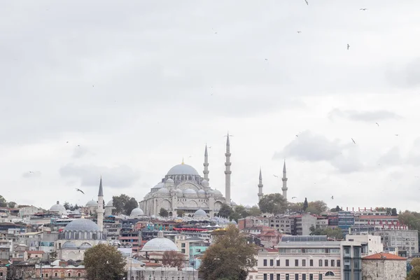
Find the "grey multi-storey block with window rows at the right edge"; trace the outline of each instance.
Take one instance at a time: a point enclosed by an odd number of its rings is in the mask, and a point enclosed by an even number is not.
[[[419,232],[417,230],[378,230],[374,235],[381,237],[385,247],[397,247],[398,255],[409,258],[419,253]]]

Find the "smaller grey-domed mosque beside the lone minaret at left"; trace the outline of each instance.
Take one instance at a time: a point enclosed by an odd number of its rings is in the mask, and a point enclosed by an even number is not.
[[[106,243],[106,237],[96,223],[85,218],[76,219],[59,233],[55,243],[57,258],[83,260],[88,248],[101,243]]]

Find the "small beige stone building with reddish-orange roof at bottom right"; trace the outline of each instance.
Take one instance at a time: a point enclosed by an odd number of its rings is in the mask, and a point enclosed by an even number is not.
[[[404,280],[406,276],[406,258],[389,253],[377,253],[362,259],[363,280]]]

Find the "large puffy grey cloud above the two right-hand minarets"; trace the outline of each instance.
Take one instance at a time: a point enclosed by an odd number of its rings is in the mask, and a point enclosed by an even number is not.
[[[338,140],[330,141],[321,135],[309,131],[302,132],[299,137],[290,142],[280,153],[274,154],[274,159],[287,157],[310,162],[329,162],[338,172],[351,173],[362,169],[363,164],[349,145],[342,145]],[[348,154],[348,155],[346,155]]]

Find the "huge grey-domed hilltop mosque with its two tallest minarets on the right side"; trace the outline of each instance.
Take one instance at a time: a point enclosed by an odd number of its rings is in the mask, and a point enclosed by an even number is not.
[[[209,185],[209,158],[207,146],[204,151],[204,176],[184,162],[175,165],[165,175],[158,185],[151,188],[140,208],[147,216],[158,216],[160,209],[164,208],[169,216],[176,216],[177,210],[183,210],[186,215],[193,216],[197,210],[202,209],[210,217],[216,216],[222,204],[231,204],[230,201],[230,141],[226,140],[225,161],[225,197],[220,190],[211,189]],[[232,203],[233,204],[233,203]]]

